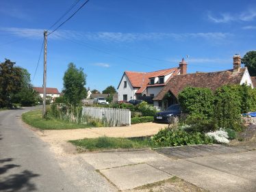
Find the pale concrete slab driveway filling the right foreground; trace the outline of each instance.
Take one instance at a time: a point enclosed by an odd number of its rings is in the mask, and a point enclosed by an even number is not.
[[[255,150],[218,145],[162,150],[169,154],[144,150],[79,156],[120,190],[178,176],[209,191],[256,191]],[[188,157],[177,158],[177,154]]]

